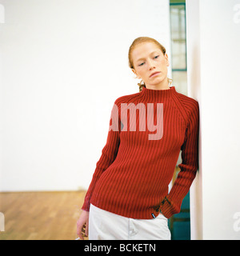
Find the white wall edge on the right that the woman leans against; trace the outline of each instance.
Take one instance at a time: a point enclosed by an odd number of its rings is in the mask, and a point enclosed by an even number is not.
[[[200,105],[192,239],[240,238],[240,2],[187,0],[188,86]]]

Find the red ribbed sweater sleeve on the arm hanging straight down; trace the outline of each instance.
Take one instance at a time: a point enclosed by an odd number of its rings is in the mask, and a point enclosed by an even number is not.
[[[90,182],[90,186],[86,192],[86,196],[82,205],[82,210],[90,210],[90,198],[94,192],[94,187],[98,182],[101,174],[114,162],[118,154],[118,146],[120,143],[120,129],[121,122],[119,118],[119,111],[116,101],[111,110],[109,131],[106,138],[106,145],[102,149],[102,155],[99,158],[96,168]]]

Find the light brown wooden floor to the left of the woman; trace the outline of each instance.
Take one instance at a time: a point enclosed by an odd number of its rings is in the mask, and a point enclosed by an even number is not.
[[[0,193],[0,240],[74,240],[86,191]]]

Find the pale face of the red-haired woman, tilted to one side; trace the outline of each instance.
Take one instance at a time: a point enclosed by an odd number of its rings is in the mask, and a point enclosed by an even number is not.
[[[170,66],[167,54],[154,42],[142,42],[132,51],[133,72],[150,89],[168,86],[167,66]]]

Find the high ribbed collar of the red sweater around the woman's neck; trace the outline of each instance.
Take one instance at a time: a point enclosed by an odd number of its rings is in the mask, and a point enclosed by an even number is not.
[[[170,89],[166,90],[153,90],[142,87],[141,94],[142,97],[147,98],[148,100],[162,100],[163,98],[170,98],[176,92],[174,86],[170,86]]]

